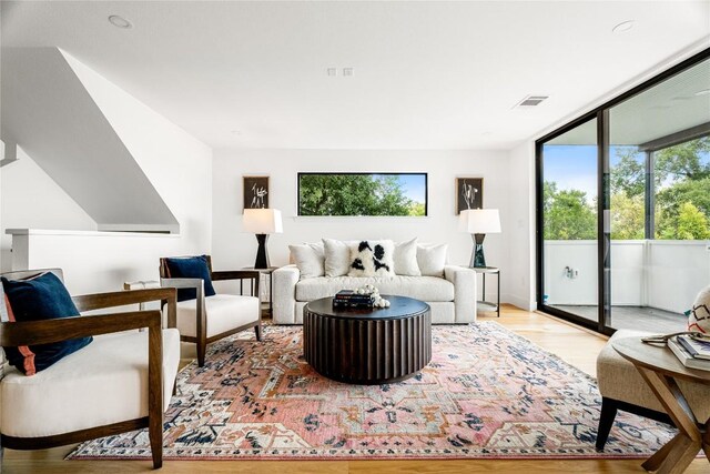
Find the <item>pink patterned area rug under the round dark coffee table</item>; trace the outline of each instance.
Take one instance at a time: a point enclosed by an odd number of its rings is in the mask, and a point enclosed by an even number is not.
[[[666,425],[619,413],[595,451],[592,377],[485,322],[434,326],[433,360],[415,377],[347,385],[303,359],[302,329],[266,326],[212,344],[187,365],[165,414],[166,460],[647,457]],[[148,458],[148,432],[81,444],[68,457]]]

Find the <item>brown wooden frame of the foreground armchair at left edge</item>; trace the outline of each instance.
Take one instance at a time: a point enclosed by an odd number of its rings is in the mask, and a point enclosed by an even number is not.
[[[3,273],[2,276],[9,280],[16,280],[31,276],[42,271],[52,271],[61,276],[61,271],[57,272],[53,269]],[[168,327],[175,327],[175,289],[161,288],[85,294],[72,296],[72,300],[80,312],[161,301],[162,304],[168,305]],[[0,304],[4,303],[0,302]],[[161,467],[163,464],[163,334],[162,314],[160,311],[131,311],[62,317],[59,320],[0,323],[0,345],[20,346],[48,344],[75,337],[110,334],[143,327],[148,329],[149,340],[148,416],[51,436],[16,437],[2,434],[2,447],[12,450],[42,450],[148,427],[153,467]]]

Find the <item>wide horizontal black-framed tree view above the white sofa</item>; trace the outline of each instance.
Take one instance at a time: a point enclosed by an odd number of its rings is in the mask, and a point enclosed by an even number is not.
[[[427,215],[427,173],[298,173],[298,215]]]

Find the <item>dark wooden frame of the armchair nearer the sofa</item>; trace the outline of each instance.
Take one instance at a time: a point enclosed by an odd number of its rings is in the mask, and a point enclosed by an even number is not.
[[[192,256],[192,255],[190,255]],[[190,256],[184,256],[185,259]],[[182,259],[183,256],[178,256],[178,259]],[[240,280],[240,291],[243,294],[244,291],[244,280],[250,280],[250,292],[251,296],[258,296],[258,283],[261,280],[261,273],[253,270],[227,270],[227,271],[213,271],[212,270],[212,259],[210,255],[205,255],[207,260],[207,269],[210,270],[210,278],[212,281],[229,281],[229,280]],[[242,332],[250,327],[254,327],[254,332],[256,334],[256,340],[262,340],[262,312],[261,307],[258,310],[258,319],[252,323],[247,323],[241,325],[239,327],[234,327],[230,331],[222,332],[220,334],[215,334],[211,337],[207,337],[207,322],[206,322],[206,310],[204,303],[204,281],[202,279],[173,279],[170,278],[170,271],[168,270],[168,258],[160,259],[160,282],[161,286],[169,286],[175,289],[195,289],[197,294],[197,303],[196,303],[196,336],[189,335],[180,335],[180,340],[184,342],[192,342],[197,345],[197,365],[201,367],[204,365],[204,354],[206,352],[207,344],[226,337],[229,335],[235,334],[237,332]],[[261,304],[261,303],[260,303]]]

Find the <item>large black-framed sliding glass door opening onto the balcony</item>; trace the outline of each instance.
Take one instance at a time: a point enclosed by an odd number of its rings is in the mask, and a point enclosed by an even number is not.
[[[710,284],[710,50],[537,142],[538,307],[673,332]]]

